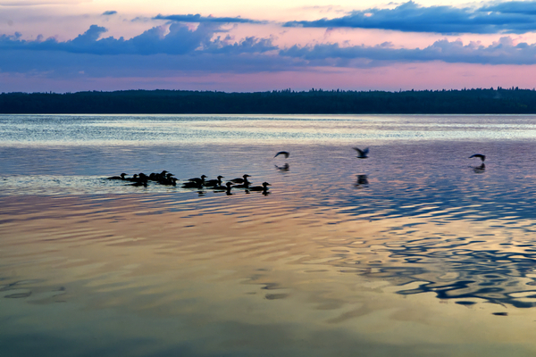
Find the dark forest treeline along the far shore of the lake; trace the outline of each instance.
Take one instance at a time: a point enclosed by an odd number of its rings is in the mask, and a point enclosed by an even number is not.
[[[536,91],[517,87],[420,91],[290,89],[225,93],[125,90],[78,93],[3,93],[0,113],[536,113]]]

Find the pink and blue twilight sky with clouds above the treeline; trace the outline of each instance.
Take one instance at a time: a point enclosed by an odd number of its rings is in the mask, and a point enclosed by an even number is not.
[[[0,92],[536,87],[536,0],[0,0]]]

